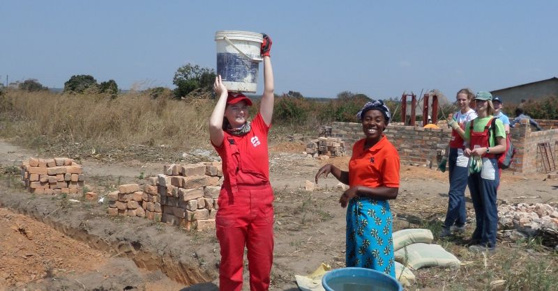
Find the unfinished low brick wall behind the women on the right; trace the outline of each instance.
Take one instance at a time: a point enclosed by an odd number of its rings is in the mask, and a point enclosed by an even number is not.
[[[552,120],[558,124],[558,120]],[[550,123],[549,123],[550,124]],[[361,123],[333,123],[331,136],[345,141],[345,150],[352,153],[354,142],[364,137]],[[402,125],[389,125],[384,132],[393,146],[398,149],[402,164],[437,166],[438,155],[451,139],[451,129],[425,129]],[[511,141],[516,154],[511,168],[506,171],[518,173],[536,173],[541,171],[540,154],[537,154],[538,143],[549,143],[555,162],[558,163],[558,129],[532,132],[528,120],[510,131]]]

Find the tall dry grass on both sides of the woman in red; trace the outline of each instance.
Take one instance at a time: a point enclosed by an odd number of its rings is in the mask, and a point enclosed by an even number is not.
[[[168,162],[179,159],[176,152],[211,149],[207,125],[214,106],[209,99],[152,99],[134,91],[113,100],[11,90],[0,96],[0,136],[49,155]],[[274,126],[270,140],[318,126],[317,120]]]

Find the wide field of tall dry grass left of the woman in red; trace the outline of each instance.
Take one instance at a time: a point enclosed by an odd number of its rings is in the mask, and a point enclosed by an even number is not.
[[[213,109],[213,100],[153,100],[142,93],[111,100],[8,91],[0,98],[1,136],[17,136],[32,148],[86,143],[93,148],[140,144],[188,149],[207,144],[207,120]]]

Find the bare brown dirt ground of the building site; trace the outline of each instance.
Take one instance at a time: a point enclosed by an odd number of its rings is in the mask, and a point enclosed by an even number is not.
[[[303,187],[306,180],[314,180],[323,164],[347,168],[349,157],[325,161],[308,158],[302,154],[305,144],[288,141],[270,146],[270,175],[276,191],[272,290],[298,290],[294,275],[310,274],[321,262],[334,268],[345,266],[345,210],[338,204],[342,194],[335,188],[338,182],[333,177],[319,180],[318,189],[312,192]],[[216,158],[211,149],[206,150],[208,159]],[[0,290],[218,290],[220,256],[213,232],[186,231],[137,217],[107,217],[107,205],[81,196],[28,194],[13,166],[31,156],[38,157],[38,153],[0,140],[0,233],[7,234],[0,238]],[[132,159],[110,164],[96,159],[81,162],[86,187],[101,195],[118,184],[141,182],[142,176],[156,175],[163,169],[163,162]],[[445,216],[447,191],[447,173],[402,165],[400,194],[390,203],[394,230],[435,230]],[[557,194],[558,180],[547,179],[545,174],[524,176],[504,171],[498,198],[499,203],[557,206]],[[470,199],[467,212],[472,219]],[[470,228],[471,224],[469,235]],[[485,289],[490,282],[479,282],[478,277],[460,279],[490,267],[490,261],[467,251],[462,243],[465,239],[437,240],[466,262],[459,273],[419,269],[414,272],[417,283],[409,289]],[[536,258],[551,258],[545,272],[557,272],[555,253],[535,251]],[[517,244],[502,240],[492,259],[502,262],[511,252],[518,252]],[[520,256],[536,260],[532,252],[520,251]],[[248,272],[244,276],[247,283]],[[248,290],[247,284],[244,290]]]

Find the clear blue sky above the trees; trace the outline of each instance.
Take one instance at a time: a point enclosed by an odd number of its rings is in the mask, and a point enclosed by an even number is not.
[[[62,88],[91,74],[174,88],[181,65],[216,67],[216,31],[242,30],[273,38],[276,93],[453,97],[557,77],[557,11],[558,1],[4,0],[0,80]]]

